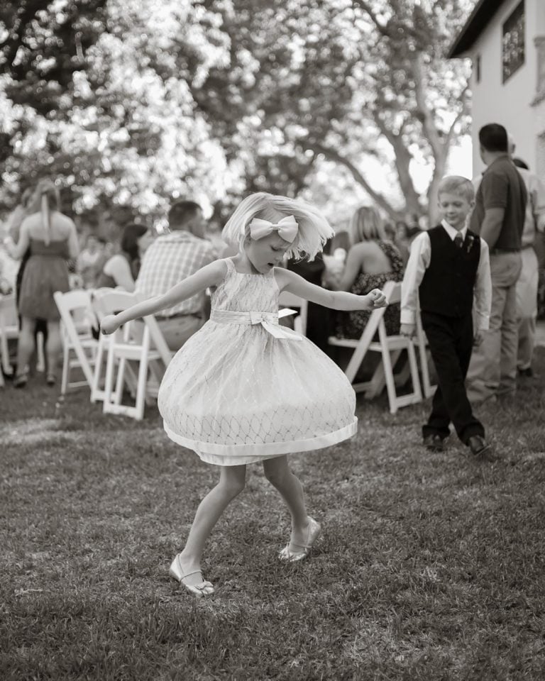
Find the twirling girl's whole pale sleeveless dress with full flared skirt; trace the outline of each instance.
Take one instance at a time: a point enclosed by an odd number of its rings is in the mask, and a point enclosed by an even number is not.
[[[356,433],[356,395],[307,338],[278,326],[278,287],[231,258],[210,320],[177,352],[161,383],[165,431],[203,461],[254,463],[316,450]]]

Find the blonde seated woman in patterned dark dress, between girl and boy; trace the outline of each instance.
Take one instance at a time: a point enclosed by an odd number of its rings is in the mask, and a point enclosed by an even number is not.
[[[387,281],[402,280],[403,260],[400,251],[394,243],[387,240],[382,219],[375,208],[358,208],[352,217],[348,233],[351,248],[336,289],[363,296],[371,289],[382,288]],[[369,316],[370,311],[339,312],[336,335],[339,338],[359,338]],[[384,320],[387,333],[399,333],[400,306],[388,306]]]

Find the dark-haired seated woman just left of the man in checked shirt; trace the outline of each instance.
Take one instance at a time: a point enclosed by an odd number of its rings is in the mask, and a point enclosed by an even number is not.
[[[130,224],[123,228],[121,253],[116,253],[106,260],[97,281],[97,288],[119,287],[132,293],[142,257],[152,241],[153,233],[145,225]]]

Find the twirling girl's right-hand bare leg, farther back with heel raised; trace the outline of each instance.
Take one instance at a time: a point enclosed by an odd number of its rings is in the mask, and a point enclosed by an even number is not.
[[[294,475],[287,465],[287,456],[278,456],[274,459],[263,461],[263,472],[267,480],[282,494],[290,514],[292,514],[292,537],[291,541],[297,545],[304,545],[307,539],[309,516],[304,505],[303,486],[299,478]],[[291,543],[291,542],[290,542]],[[300,550],[290,547],[290,550]]]

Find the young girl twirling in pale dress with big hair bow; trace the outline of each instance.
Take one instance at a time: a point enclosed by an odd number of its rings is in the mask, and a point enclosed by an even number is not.
[[[172,359],[158,406],[173,441],[220,466],[219,482],[199,504],[187,542],[170,575],[197,596],[214,592],[201,572],[212,528],[245,485],[246,464],[263,462],[265,477],[292,516],[280,560],[302,560],[320,525],[307,514],[301,482],[287,454],[308,452],[356,433],[356,396],[350,382],[307,338],[278,324],[278,295],[286,290],[336,310],[385,306],[379,289],[365,296],[327,291],[280,267],[287,257],[314,258],[333,230],[309,204],[286,196],[252,194],[226,223],[233,258],[216,260],[169,292],[101,323],[104,333],[153,314],[209,287],[211,316]]]

